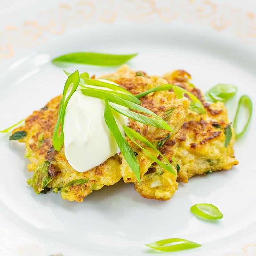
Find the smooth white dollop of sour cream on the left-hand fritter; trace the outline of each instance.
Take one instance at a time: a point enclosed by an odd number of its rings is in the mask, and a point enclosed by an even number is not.
[[[68,101],[63,132],[68,163],[78,172],[85,172],[120,150],[105,123],[105,101],[86,96],[80,89],[78,86]],[[124,134],[122,125],[127,125],[128,118],[119,113],[114,115],[119,129]]]

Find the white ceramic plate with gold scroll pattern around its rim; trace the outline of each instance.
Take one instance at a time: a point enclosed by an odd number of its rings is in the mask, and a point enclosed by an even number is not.
[[[0,7],[0,130],[60,94],[63,68],[96,75],[116,69],[51,64],[77,51],[138,52],[128,63],[132,69],[157,75],[185,69],[203,92],[235,84],[238,93],[227,104],[231,121],[242,94],[256,106],[254,1],[11,0]],[[178,237],[202,246],[172,255],[256,255],[255,125],[253,115],[236,141],[239,165],[180,183],[169,201],[144,199],[123,182],[83,203],[36,195],[26,184],[24,146],[1,134],[0,254],[159,255],[144,244]],[[190,207],[202,202],[224,217],[197,219]]]

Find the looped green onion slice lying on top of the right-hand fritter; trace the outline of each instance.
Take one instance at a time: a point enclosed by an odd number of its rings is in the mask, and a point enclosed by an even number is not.
[[[173,92],[176,94],[177,98],[180,99],[184,97],[184,94],[188,94],[188,96],[191,98],[190,105],[188,109],[197,112],[199,114],[204,114],[206,113],[206,110],[204,108],[204,105],[202,102],[191,92],[188,92],[187,90],[181,88],[180,86],[173,86]]]

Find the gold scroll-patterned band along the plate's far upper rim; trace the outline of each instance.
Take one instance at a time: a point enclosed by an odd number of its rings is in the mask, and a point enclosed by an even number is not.
[[[118,11],[117,11],[118,10]],[[52,35],[61,35],[69,27],[76,28],[99,22],[113,23],[123,19],[136,23],[183,22],[230,30],[249,44],[256,44],[255,13],[213,0],[96,0],[56,4],[55,8],[38,13],[36,20],[20,25],[9,24],[0,30],[0,60],[15,55],[18,47],[43,44]]]

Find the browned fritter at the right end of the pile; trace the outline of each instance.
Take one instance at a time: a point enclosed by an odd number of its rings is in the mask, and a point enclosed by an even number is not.
[[[188,182],[196,174],[227,170],[238,164],[234,157],[235,133],[228,120],[227,109],[222,102],[208,104],[202,92],[190,83],[190,75],[178,70],[164,77],[170,84],[181,86],[197,96],[203,103],[206,113],[188,111],[179,132],[169,141],[173,150],[173,161],[178,164],[177,180]],[[225,147],[225,132],[230,128],[231,140]]]

